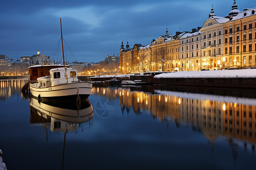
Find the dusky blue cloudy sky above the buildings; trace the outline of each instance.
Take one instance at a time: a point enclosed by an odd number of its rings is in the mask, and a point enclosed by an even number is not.
[[[0,54],[14,60],[40,51],[60,59],[57,46],[62,22],[69,62],[104,61],[119,54],[121,42],[147,45],[176,31],[202,27],[210,9],[217,16],[231,11],[233,0],[10,0],[1,1]],[[238,9],[256,7],[254,0],[237,0]],[[67,45],[65,45],[67,43]],[[70,49],[70,50],[69,50]]]

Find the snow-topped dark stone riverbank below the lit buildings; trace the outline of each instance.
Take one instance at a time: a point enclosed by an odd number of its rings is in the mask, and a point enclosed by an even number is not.
[[[155,75],[158,74],[158,75]],[[80,76],[85,80],[88,76]],[[104,83],[106,80],[141,80],[147,84],[166,84],[178,86],[205,86],[229,88],[256,88],[256,69],[243,70],[207,70],[179,71],[171,73],[141,73],[125,75],[90,76],[94,83]]]

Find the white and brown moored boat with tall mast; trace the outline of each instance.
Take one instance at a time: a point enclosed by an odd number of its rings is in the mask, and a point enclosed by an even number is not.
[[[61,29],[61,44],[63,37]],[[52,68],[51,68],[52,67]],[[45,69],[42,69],[45,68]],[[51,68],[51,69],[50,69]],[[38,100],[86,100],[92,94],[92,83],[80,81],[77,70],[65,66],[63,51],[63,66],[31,66],[30,94]],[[50,69],[50,70],[49,70]],[[44,72],[40,71],[44,70]],[[40,74],[40,77],[36,78]],[[42,76],[43,75],[43,76]],[[36,80],[35,80],[36,79]]]

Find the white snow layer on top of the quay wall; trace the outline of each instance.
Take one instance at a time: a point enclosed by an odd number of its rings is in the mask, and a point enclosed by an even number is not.
[[[154,78],[256,78],[256,69],[177,71],[159,74]]]

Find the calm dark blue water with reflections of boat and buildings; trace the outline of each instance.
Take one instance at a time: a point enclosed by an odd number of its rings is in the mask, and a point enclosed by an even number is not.
[[[256,168],[255,90],[94,87],[77,106],[29,99],[24,83],[1,80],[7,169]]]

